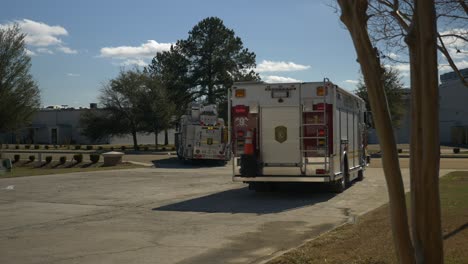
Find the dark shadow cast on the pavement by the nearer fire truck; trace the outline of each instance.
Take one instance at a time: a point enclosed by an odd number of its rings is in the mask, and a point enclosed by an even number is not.
[[[320,185],[282,186],[264,193],[244,187],[153,208],[153,211],[273,214],[325,202],[335,195]]]

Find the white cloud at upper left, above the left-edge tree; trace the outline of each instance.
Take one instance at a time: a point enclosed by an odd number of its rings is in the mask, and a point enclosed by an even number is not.
[[[51,47],[58,47],[56,50],[66,54],[75,54],[73,50],[65,46],[60,37],[68,36],[68,31],[62,26],[50,26],[43,22],[37,22],[30,19],[21,19],[0,24],[0,28],[11,27],[14,23],[18,24],[21,32],[26,34],[25,43],[30,47],[39,47],[38,53],[53,54]],[[45,49],[47,48],[47,49]]]

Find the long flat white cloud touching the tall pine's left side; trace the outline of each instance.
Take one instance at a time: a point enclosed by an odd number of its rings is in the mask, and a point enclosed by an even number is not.
[[[101,48],[100,57],[116,59],[141,59],[152,58],[157,52],[167,51],[172,43],[158,43],[155,40],[148,40],[140,46],[119,46]]]

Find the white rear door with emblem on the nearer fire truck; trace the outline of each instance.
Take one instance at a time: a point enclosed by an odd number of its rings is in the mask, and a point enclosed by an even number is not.
[[[274,106],[261,109],[261,159],[263,163],[293,165],[301,162],[299,107]]]

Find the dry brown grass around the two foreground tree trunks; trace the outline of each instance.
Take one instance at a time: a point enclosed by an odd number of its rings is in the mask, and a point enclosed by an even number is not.
[[[445,263],[468,263],[468,172],[441,178],[440,194]],[[388,205],[269,262],[292,263],[397,263]]]

